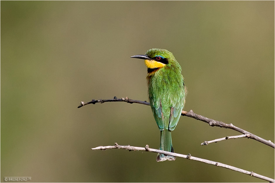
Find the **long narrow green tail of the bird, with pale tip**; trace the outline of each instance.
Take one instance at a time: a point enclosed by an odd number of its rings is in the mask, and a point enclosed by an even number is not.
[[[162,130],[160,131],[160,147],[159,150],[163,151],[169,151],[174,152],[173,146],[172,146],[172,137],[171,137],[171,131],[170,130]],[[167,156],[164,154],[158,154],[157,161],[165,161],[165,160],[175,160],[175,156]]]

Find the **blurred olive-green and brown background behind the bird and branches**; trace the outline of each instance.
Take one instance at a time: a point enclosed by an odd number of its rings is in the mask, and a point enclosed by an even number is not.
[[[1,182],[266,182],[239,172],[100,145],[159,148],[147,68],[130,56],[171,51],[185,110],[274,142],[274,1],[1,1]],[[274,149],[182,116],[177,153],[274,178]]]

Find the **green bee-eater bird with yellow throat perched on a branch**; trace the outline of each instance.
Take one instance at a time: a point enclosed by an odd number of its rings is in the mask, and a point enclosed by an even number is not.
[[[145,60],[148,94],[154,118],[160,130],[160,150],[174,152],[171,131],[177,126],[185,104],[185,84],[181,66],[173,53],[153,48],[145,55],[131,58]],[[157,161],[175,160],[175,156],[157,155]]]

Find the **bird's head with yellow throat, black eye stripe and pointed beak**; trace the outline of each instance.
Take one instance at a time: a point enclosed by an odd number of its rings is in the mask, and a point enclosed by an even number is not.
[[[176,59],[168,50],[153,48],[148,50],[145,55],[134,55],[131,58],[140,58],[145,60],[145,65],[149,69],[161,68],[164,66],[170,66]]]

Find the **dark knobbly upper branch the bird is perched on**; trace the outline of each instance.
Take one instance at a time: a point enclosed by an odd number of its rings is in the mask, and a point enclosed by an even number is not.
[[[90,102],[80,102],[80,105],[78,106],[78,108],[84,106],[84,105],[87,105],[87,104],[95,104],[95,103],[104,103],[104,102],[127,102],[127,103],[137,103],[137,104],[144,104],[144,105],[150,105],[149,102],[146,102],[146,101],[140,101],[140,100],[133,100],[133,99],[129,99],[128,97],[126,98],[121,98],[121,99],[118,99],[117,97],[114,97],[113,99],[107,99],[107,100],[92,100]],[[181,113],[182,116],[188,116],[190,118],[194,118],[194,119],[197,119],[197,120],[200,120],[200,121],[204,121],[205,123],[208,123],[210,126],[218,126],[218,127],[222,127],[222,128],[229,128],[229,129],[232,129],[232,130],[236,130],[242,134],[249,134],[251,139],[254,139],[254,140],[257,140],[259,142],[262,142],[270,147],[273,147],[275,148],[275,144],[273,142],[271,142],[271,140],[265,140],[261,137],[258,137],[257,135],[254,135],[248,131],[245,131],[241,128],[238,128],[236,126],[234,126],[232,123],[231,124],[226,124],[226,123],[223,123],[221,121],[216,121],[214,119],[210,119],[210,118],[207,118],[207,117],[204,117],[204,116],[201,116],[201,115],[198,115],[198,114],[195,114],[192,110],[190,110],[189,112],[187,111],[182,111]]]

